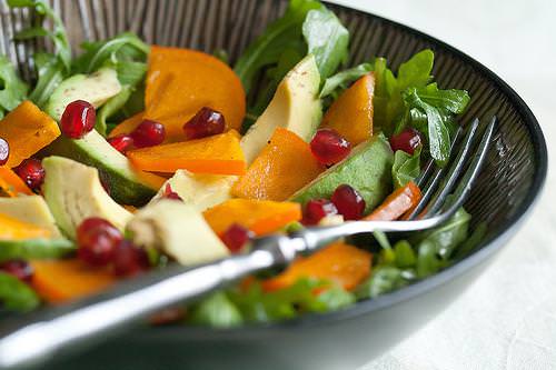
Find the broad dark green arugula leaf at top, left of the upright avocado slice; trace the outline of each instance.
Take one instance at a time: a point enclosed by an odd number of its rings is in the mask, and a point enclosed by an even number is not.
[[[284,17],[268,26],[247,48],[234,68],[246,93],[251,90],[259,71],[277,64],[285,50],[304,48],[301,28],[307,13],[320,8],[322,4],[317,0],[291,0]]]

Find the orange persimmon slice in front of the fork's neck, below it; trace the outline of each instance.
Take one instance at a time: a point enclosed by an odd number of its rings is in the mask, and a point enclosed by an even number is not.
[[[312,256],[298,258],[279,276],[262,281],[267,291],[287,288],[301,278],[326,279],[351,290],[370,274],[371,254],[336,242]]]

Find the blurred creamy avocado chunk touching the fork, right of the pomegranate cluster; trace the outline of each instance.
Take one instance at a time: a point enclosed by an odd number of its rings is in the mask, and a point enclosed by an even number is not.
[[[137,246],[161,250],[185,266],[229,254],[202,214],[179,200],[160,199],[139,210],[127,232]]]

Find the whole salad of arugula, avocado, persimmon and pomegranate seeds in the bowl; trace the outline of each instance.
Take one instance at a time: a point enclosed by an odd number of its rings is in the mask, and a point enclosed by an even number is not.
[[[32,83],[0,57],[6,314],[241,253],[259,236],[404,219],[470,101],[434,82],[431,50],[395,71],[379,56],[347,68],[349,32],[317,0],[291,0],[232,62],[128,32],[72,56],[46,2],[8,4],[38,16],[14,42],[48,38],[54,50],[34,54]],[[226,328],[344,309],[450,266],[485,229],[471,232],[460,209],[408,239],[340,240],[152,321]]]

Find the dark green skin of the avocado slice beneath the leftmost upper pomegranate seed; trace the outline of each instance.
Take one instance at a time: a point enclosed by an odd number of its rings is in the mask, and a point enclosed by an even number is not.
[[[103,156],[106,154],[108,153],[103,153]],[[44,148],[39,156],[59,156],[96,167],[100,178],[110,188],[110,197],[120,204],[141,207],[147,204],[157,193],[155,189],[131,179],[128,173],[122,173],[118,168],[107,166],[101,156],[95,156],[91,148],[85,147],[80,140],[72,140],[63,134]]]

